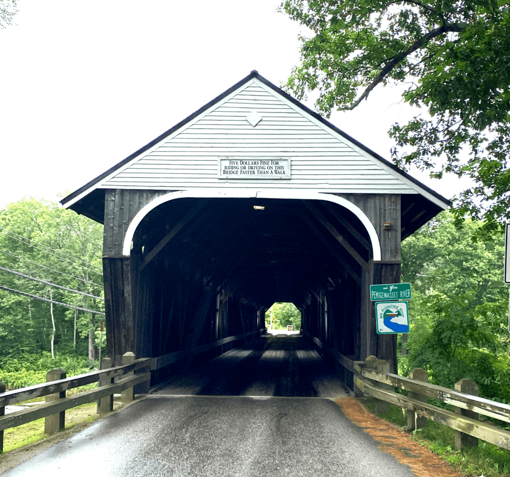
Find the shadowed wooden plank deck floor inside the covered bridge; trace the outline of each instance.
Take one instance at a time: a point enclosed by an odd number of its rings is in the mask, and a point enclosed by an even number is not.
[[[176,376],[157,394],[336,398],[346,392],[306,338],[279,334],[249,341]]]

